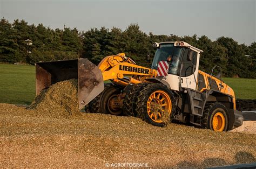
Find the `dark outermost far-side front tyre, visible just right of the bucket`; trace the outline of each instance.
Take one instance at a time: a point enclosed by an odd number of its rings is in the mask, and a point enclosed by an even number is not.
[[[85,106],[85,112],[103,113],[100,109],[100,98],[102,97],[103,93],[111,87],[113,87],[113,83],[105,83],[102,93],[93,98],[93,100]]]

